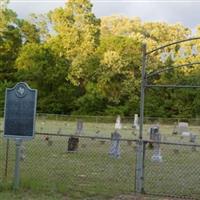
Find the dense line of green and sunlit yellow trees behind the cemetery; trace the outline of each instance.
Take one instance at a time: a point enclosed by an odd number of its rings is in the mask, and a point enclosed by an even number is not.
[[[141,45],[148,50],[190,37],[180,24],[143,23],[123,16],[96,18],[89,0],[69,0],[47,15],[19,19],[0,8],[0,90],[27,81],[39,91],[38,111],[63,114],[126,115],[139,113]],[[197,27],[197,35],[199,27]],[[192,45],[184,44],[186,54]],[[148,58],[147,72],[198,62],[199,55],[160,61],[159,51]],[[198,47],[199,48],[199,47]],[[175,68],[148,80],[152,84],[198,84],[198,65]],[[0,104],[3,106],[3,98]],[[197,90],[146,90],[145,114],[160,117],[199,116]]]

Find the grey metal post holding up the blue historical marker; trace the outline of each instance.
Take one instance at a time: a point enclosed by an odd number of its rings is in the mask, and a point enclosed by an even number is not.
[[[14,189],[19,188],[20,181],[20,148],[22,139],[16,138],[16,159],[15,159],[15,171],[14,171]]]

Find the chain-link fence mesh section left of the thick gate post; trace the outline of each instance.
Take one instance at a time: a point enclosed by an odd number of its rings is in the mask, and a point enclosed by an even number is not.
[[[134,192],[135,141],[119,141],[119,157],[109,155],[109,138],[76,137],[76,151],[69,151],[67,135],[37,134],[21,147],[21,187],[33,191],[67,194],[69,199],[113,197]],[[3,177],[12,183],[15,164],[15,143],[4,141]],[[6,177],[5,177],[6,176]]]

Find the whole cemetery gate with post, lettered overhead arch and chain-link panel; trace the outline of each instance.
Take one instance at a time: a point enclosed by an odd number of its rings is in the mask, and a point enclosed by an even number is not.
[[[136,192],[137,193],[144,193],[145,192],[145,185],[148,186],[148,181],[146,181],[146,180],[150,180],[150,178],[148,179],[148,175],[149,175],[149,173],[152,172],[152,173],[155,173],[155,176],[154,176],[155,178],[152,179],[152,182],[151,182],[152,184],[149,184],[149,185],[154,185],[155,183],[158,183],[158,185],[160,185],[160,187],[162,186],[164,188],[171,188],[171,190],[169,189],[170,191],[168,192],[168,194],[173,194],[174,193],[173,191],[178,190],[178,189],[176,187],[174,187],[173,184],[171,184],[171,182],[173,180],[173,177],[176,177],[174,175],[176,175],[177,172],[179,171],[179,169],[176,169],[176,167],[173,166],[173,162],[177,163],[177,161],[179,161],[178,163],[181,163],[180,169],[183,168],[184,162],[187,162],[187,163],[185,163],[185,165],[187,164],[188,166],[191,163],[193,163],[193,162],[191,162],[190,159],[191,159],[192,156],[194,156],[194,154],[193,155],[185,154],[185,158],[182,158],[182,159],[177,158],[177,160],[172,161],[172,163],[169,162],[169,163],[171,163],[171,165],[169,167],[167,167],[165,164],[158,165],[158,163],[157,163],[153,166],[153,168],[155,168],[155,172],[154,172],[154,169],[151,169],[150,172],[147,169],[145,169],[145,166],[149,167],[151,164],[149,164],[149,162],[147,161],[148,160],[148,153],[146,151],[146,146],[145,146],[146,142],[143,139],[143,135],[144,135],[143,134],[143,132],[144,132],[143,131],[143,125],[144,125],[144,103],[145,103],[145,91],[146,91],[146,89],[148,89],[148,88],[200,88],[200,85],[152,84],[152,80],[149,81],[149,79],[152,78],[152,77],[156,77],[157,75],[160,75],[164,72],[168,72],[168,71],[176,69],[176,68],[190,67],[190,66],[193,66],[193,65],[200,65],[200,61],[188,63],[187,60],[186,60],[186,63],[184,63],[184,64],[178,64],[178,65],[175,65],[175,66],[174,66],[174,64],[171,64],[170,66],[165,65],[165,61],[167,59],[170,59],[171,61],[176,60],[175,51],[171,51],[171,49],[170,49],[172,46],[175,46],[176,49],[179,48],[179,52],[178,52],[179,56],[181,56],[181,58],[184,59],[188,55],[186,55],[184,48],[180,47],[180,44],[183,44],[183,43],[185,44],[186,42],[188,42],[188,43],[191,42],[191,44],[189,45],[191,47],[191,55],[189,55],[189,56],[198,55],[198,48],[193,43],[194,41],[197,41],[197,40],[200,40],[200,37],[189,38],[189,39],[184,39],[184,40],[180,40],[180,41],[177,41],[177,42],[173,42],[173,43],[158,47],[156,49],[153,49],[149,52],[147,52],[146,44],[144,44],[142,46],[143,56],[142,56],[142,80],[141,80],[141,98],[140,98],[140,133],[139,133],[137,164],[136,164]],[[170,51],[169,51],[169,49],[170,49]],[[148,66],[148,61],[150,60],[150,56],[153,54],[153,56],[156,57],[160,53],[160,51],[163,51],[162,54],[161,54],[161,61],[163,63],[163,67],[159,68],[155,71],[149,72],[147,66]],[[157,141],[157,142],[160,143],[160,141]],[[173,144],[173,145],[176,146],[176,144]],[[171,147],[172,145],[167,144],[167,143],[165,143],[165,144],[160,143],[160,146],[163,146],[164,149],[168,149],[169,147],[172,148]],[[188,148],[186,146],[187,145],[185,145],[185,146],[182,145],[180,148],[184,151],[185,149]],[[196,149],[196,147],[193,147],[193,148]],[[184,155],[184,154],[182,154],[182,155]],[[159,156],[159,152],[157,153],[157,156]],[[196,156],[198,157],[198,154]],[[175,158],[175,156],[173,156],[173,158]],[[163,168],[161,167],[161,165],[163,166]],[[169,170],[169,168],[172,168],[174,170],[173,171],[172,170],[167,171],[167,170]],[[186,173],[185,175],[190,176],[191,172],[194,173],[194,171],[192,171],[192,168],[193,167],[192,167],[192,164],[191,164],[191,166],[188,167],[187,170],[185,170],[185,171],[181,170],[181,171],[185,172]],[[163,175],[161,177],[156,176],[159,171],[163,171],[164,172],[163,174],[166,174],[166,176],[165,175]],[[166,179],[168,177],[169,172],[171,174],[171,178],[169,178],[169,180],[167,181]],[[196,168],[195,172],[198,174],[198,177],[199,177],[200,174],[199,174],[198,168]],[[180,179],[180,181],[178,183],[182,186],[187,185],[186,186],[187,189],[189,191],[192,191],[192,193],[194,193],[193,195],[195,197],[197,195],[197,199],[198,198],[200,199],[199,192],[198,192],[198,190],[195,189],[196,187],[199,186],[198,181],[193,176],[192,176],[193,179],[186,179],[186,176],[184,176],[184,173],[181,174],[180,176],[183,176],[183,177],[182,177],[182,179]],[[176,180],[179,180],[179,179],[176,179]],[[165,184],[163,184],[163,182],[165,182],[165,181],[169,184],[168,187]],[[196,184],[196,185],[192,187],[192,183]],[[151,187],[149,186],[149,188],[151,188]],[[186,190],[185,187],[183,187],[183,188],[184,188],[184,191],[185,191]],[[193,191],[193,189],[194,189],[194,191]],[[149,189],[149,191],[151,191],[151,189]],[[183,192],[183,191],[180,190],[179,193],[181,194],[181,192]],[[155,193],[158,193],[158,190],[156,190]],[[187,197],[189,197],[189,196],[187,196]]]

